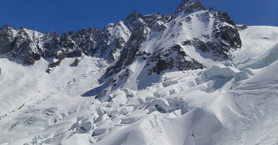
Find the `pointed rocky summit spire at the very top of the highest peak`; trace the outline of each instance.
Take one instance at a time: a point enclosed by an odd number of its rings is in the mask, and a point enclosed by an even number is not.
[[[185,12],[197,12],[200,10],[206,10],[203,3],[201,1],[194,2],[193,0],[183,0],[179,7],[176,10],[177,12],[185,11]]]

